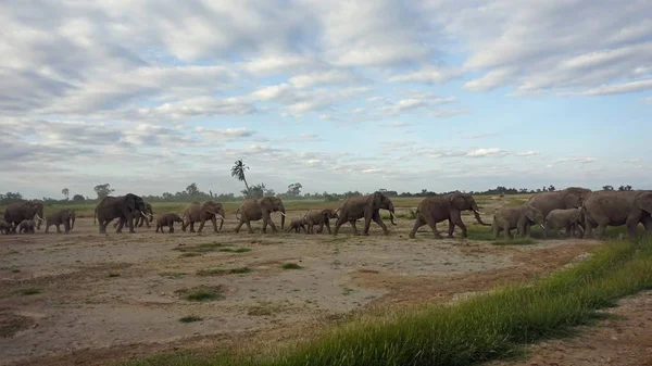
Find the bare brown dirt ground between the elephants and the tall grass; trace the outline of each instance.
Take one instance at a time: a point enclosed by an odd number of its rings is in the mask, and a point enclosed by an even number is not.
[[[155,234],[153,227],[115,234],[110,226],[104,236],[92,219],[84,218],[68,235],[45,235],[41,229],[0,236],[0,365],[109,365],[243,340],[283,342],[351,312],[449,300],[527,280],[579,260],[599,244],[435,240],[427,226],[410,240],[413,220],[398,224],[387,237],[375,224],[369,237],[351,236],[348,225],[338,237],[263,235],[260,223],[255,234],[243,229],[236,235],[233,219],[220,234],[210,225],[202,235],[178,227],[173,235]],[[439,230],[447,226],[440,224]],[[301,268],[285,269],[287,263]],[[221,298],[197,302],[183,299],[189,292],[177,292],[201,286],[212,287]],[[645,313],[641,321],[649,328],[650,294],[644,299],[647,313],[632,305],[632,314]],[[190,315],[202,320],[179,321]],[[650,340],[649,330],[647,336]],[[588,352],[578,344],[568,352]]]

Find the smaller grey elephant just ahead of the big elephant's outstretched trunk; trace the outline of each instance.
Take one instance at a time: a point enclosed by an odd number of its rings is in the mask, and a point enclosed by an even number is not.
[[[497,239],[500,231],[505,231],[505,239],[513,238],[510,230],[516,229],[522,238],[529,238],[530,226],[539,224],[544,229],[546,216],[538,207],[527,203],[516,207],[502,207],[493,215],[491,231]]]

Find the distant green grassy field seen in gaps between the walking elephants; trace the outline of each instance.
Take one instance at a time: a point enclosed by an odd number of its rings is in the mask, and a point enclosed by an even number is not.
[[[503,201],[506,205],[518,205],[525,202],[531,194],[512,194],[500,199],[498,197],[488,197],[488,195],[478,195],[476,197],[476,202],[480,206],[480,211],[482,210],[484,204],[488,204],[489,202],[496,202],[497,200]],[[423,197],[414,197],[414,198],[392,198],[391,199],[394,206],[397,209],[412,209],[416,210],[418,204],[424,200]],[[338,209],[343,201],[331,201],[327,202],[324,200],[285,200],[284,204],[286,206],[286,211],[303,211],[303,210],[313,210],[313,209]],[[153,202],[152,210],[154,213],[164,213],[164,212],[176,212],[181,213],[186,206],[188,206],[189,202]],[[236,210],[240,205],[241,201],[233,201],[233,202],[223,202],[224,210],[226,214],[235,214]],[[57,211],[61,209],[74,209],[77,217],[92,217],[93,210],[96,207],[96,203],[70,203],[70,204],[52,204],[46,205],[43,207],[43,213],[47,215],[51,211]],[[4,212],[4,206],[0,205],[0,212]],[[387,215],[389,218],[389,216]]]

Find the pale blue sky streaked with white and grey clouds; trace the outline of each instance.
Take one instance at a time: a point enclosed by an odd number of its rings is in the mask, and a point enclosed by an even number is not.
[[[652,189],[652,1],[0,2],[0,192]]]

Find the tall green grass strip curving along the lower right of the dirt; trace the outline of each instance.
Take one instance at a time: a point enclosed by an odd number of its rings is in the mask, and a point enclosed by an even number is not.
[[[522,354],[527,343],[572,336],[576,326],[605,317],[599,310],[650,288],[652,240],[613,241],[584,262],[528,286],[503,287],[455,303],[397,308],[383,316],[358,316],[291,348],[220,358],[167,355],[156,365],[479,365]]]

